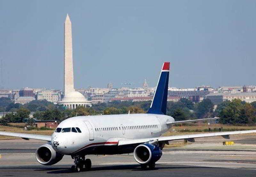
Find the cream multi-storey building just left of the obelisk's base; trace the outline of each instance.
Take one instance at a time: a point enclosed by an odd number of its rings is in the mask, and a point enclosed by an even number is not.
[[[58,102],[60,100],[60,93],[53,90],[41,90],[37,93],[37,100],[47,100],[50,102]]]

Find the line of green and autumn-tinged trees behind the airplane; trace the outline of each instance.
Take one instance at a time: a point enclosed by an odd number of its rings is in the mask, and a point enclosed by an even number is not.
[[[63,105],[55,105],[46,100],[33,100],[27,104],[14,104],[12,100],[0,98],[0,110],[10,110],[12,113],[5,114],[0,119],[0,124],[7,125],[10,122],[24,122],[31,112],[37,120],[59,120],[63,121],[69,117],[84,115],[104,114],[136,114],[146,113],[151,101],[132,102],[114,101],[110,103],[99,103],[92,107],[78,106],[76,109],[66,109]],[[167,115],[172,116],[176,121],[210,118],[218,116],[223,124],[253,124],[256,123],[256,102],[246,103],[235,99],[223,101],[214,107],[211,100],[204,99],[199,103],[181,98],[178,102],[167,102]]]

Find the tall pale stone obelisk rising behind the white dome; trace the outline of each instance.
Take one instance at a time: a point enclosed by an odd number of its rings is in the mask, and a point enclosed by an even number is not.
[[[64,95],[74,90],[71,21],[67,14],[64,24]]]

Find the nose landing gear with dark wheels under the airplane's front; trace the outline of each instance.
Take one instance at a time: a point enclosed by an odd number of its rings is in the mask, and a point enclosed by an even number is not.
[[[75,165],[71,166],[72,172],[81,172],[83,170],[89,171],[92,167],[92,162],[90,159],[85,159],[85,156],[74,156]]]

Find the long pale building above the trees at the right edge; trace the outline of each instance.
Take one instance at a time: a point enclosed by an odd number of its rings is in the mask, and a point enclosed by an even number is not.
[[[204,96],[204,98],[210,99],[214,105],[218,105],[225,100],[232,101],[234,99],[240,99],[247,103],[251,103],[253,101],[256,101],[256,92],[210,93]]]

